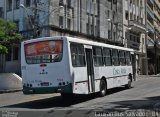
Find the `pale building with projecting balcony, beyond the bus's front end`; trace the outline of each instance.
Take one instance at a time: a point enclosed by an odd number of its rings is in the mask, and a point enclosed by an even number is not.
[[[124,45],[136,53],[134,72],[147,74],[145,0],[123,0]]]

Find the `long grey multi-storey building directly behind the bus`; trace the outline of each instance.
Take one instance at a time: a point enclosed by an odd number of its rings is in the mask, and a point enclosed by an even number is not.
[[[123,46],[120,0],[1,0],[1,17],[14,21],[26,39],[67,35]],[[20,74],[20,46],[5,57],[3,72]]]

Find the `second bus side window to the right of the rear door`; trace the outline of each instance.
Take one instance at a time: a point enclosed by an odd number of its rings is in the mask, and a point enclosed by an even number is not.
[[[104,59],[104,64],[106,66],[111,66],[112,65],[111,49],[109,49],[109,48],[104,48],[103,49],[103,59]]]

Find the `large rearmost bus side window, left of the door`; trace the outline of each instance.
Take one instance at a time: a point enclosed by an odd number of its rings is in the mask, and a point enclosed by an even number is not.
[[[71,48],[72,65],[74,67],[84,67],[85,54],[83,45],[71,43],[70,48]]]

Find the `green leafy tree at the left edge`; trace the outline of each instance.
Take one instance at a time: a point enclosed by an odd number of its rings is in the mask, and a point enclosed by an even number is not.
[[[22,35],[17,33],[16,24],[0,18],[0,53],[7,53],[8,47],[19,43]]]

